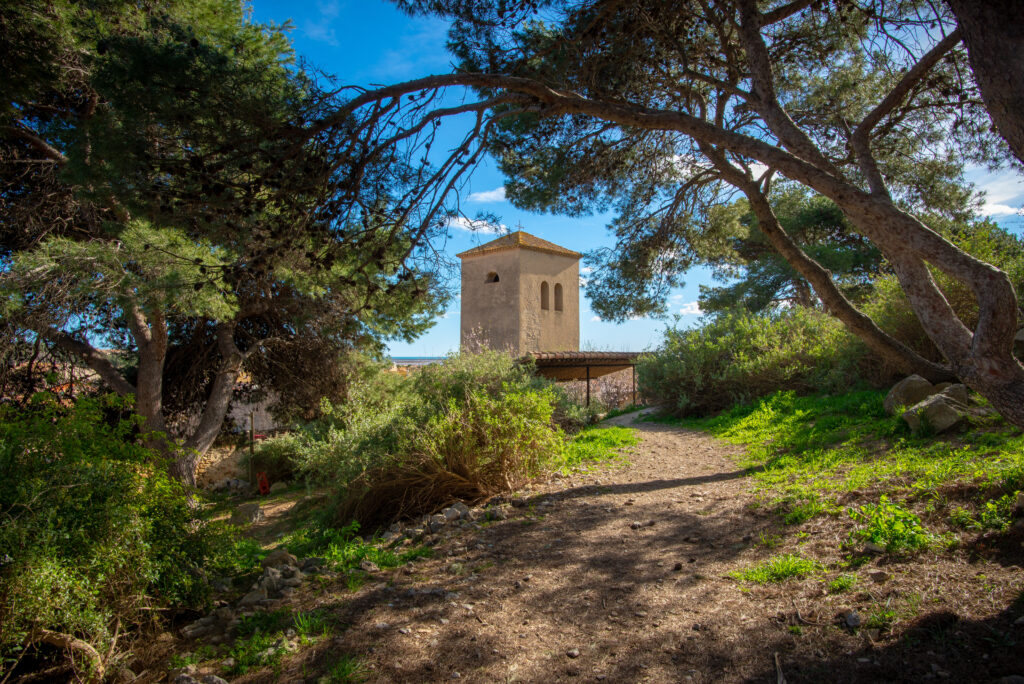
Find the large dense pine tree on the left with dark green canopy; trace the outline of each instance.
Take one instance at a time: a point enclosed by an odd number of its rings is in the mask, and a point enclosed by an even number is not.
[[[308,411],[347,356],[431,324],[418,171],[353,117],[323,124],[338,94],[281,27],[232,0],[0,11],[5,323],[135,394],[148,429],[203,452],[243,370]]]

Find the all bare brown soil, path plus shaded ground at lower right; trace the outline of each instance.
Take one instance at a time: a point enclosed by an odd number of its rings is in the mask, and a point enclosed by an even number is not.
[[[433,558],[375,573],[356,592],[306,583],[289,607],[327,609],[347,629],[276,672],[234,681],[314,682],[311,673],[343,653],[360,657],[372,682],[984,682],[1024,674],[1015,646],[1024,626],[1014,624],[1024,612],[1014,603],[1019,530],[903,562],[869,557],[845,570],[857,575],[852,591],[829,594],[846,521],[782,525],[736,465],[737,447],[665,425],[633,427],[641,442],[628,466],[535,483],[507,520],[459,530]],[[730,576],[780,553],[830,569],[765,586]],[[851,610],[860,629],[843,622]]]

